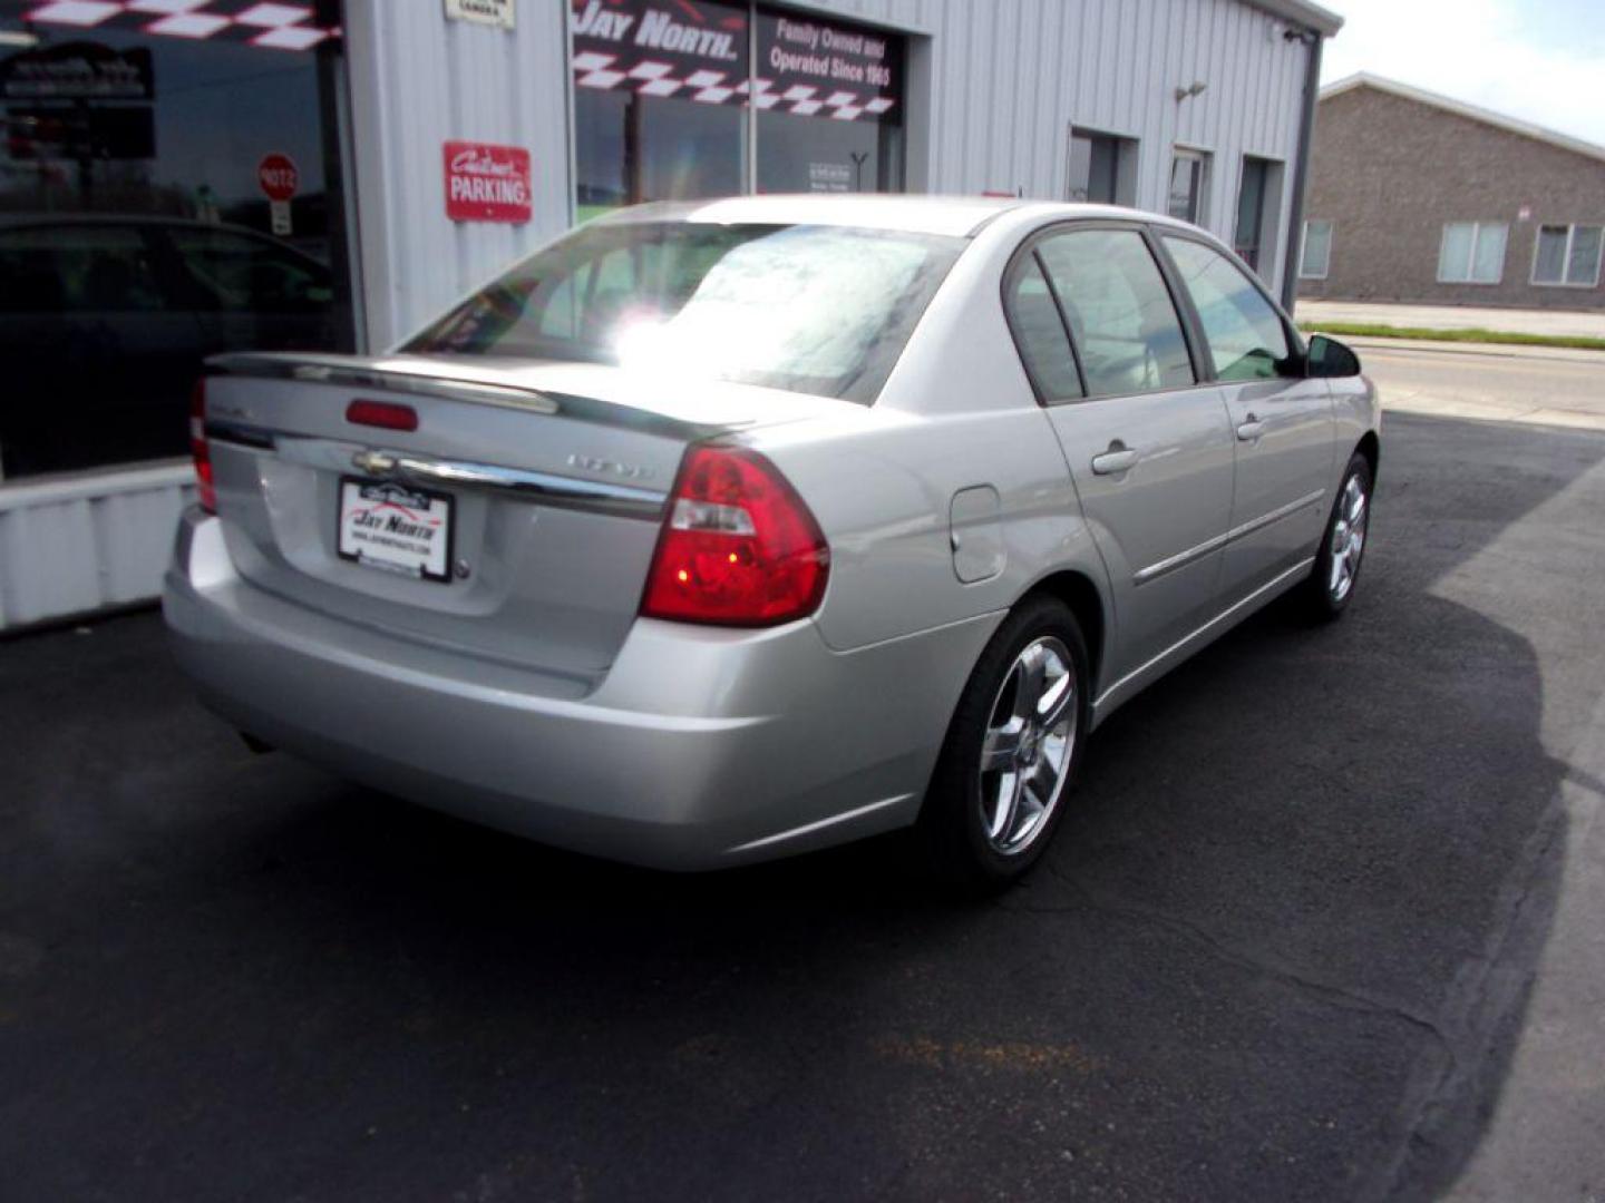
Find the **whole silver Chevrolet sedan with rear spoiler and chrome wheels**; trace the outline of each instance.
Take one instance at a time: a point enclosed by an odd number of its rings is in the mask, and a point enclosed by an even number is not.
[[[194,396],[164,608],[252,741],[698,869],[913,828],[1002,885],[1093,728],[1350,605],[1379,409],[1213,237],[929,197],[647,205],[380,356]]]

